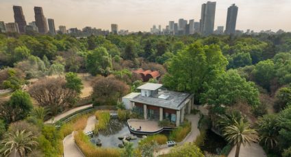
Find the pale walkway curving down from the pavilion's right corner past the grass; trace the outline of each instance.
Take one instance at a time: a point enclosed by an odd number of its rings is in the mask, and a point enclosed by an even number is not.
[[[191,132],[190,134],[182,141],[181,143],[187,143],[187,142],[193,142],[196,137],[200,134],[200,131],[198,129],[198,122],[199,122],[199,114],[196,115],[186,115],[186,119],[188,119],[191,122]],[[168,154],[170,153],[170,149],[173,147],[166,147],[159,150],[156,150],[154,153],[154,156],[160,156],[162,154]]]

